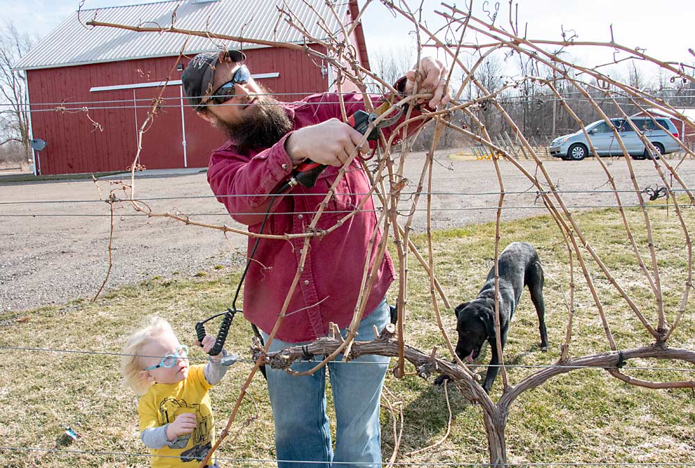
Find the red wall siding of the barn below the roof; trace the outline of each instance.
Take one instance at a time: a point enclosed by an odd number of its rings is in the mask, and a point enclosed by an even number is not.
[[[310,47],[320,50],[318,45]],[[245,53],[252,73],[279,73],[277,78],[259,82],[277,93],[281,101],[296,101],[329,87],[327,76],[321,74],[321,65],[328,64],[303,51],[261,48]],[[187,61],[184,59],[184,65]],[[131,166],[138,150],[138,130],[160,90],[136,89],[136,98],[145,100],[138,101],[134,110],[132,89],[90,92],[90,88],[158,82],[167,76],[178,80],[181,72],[172,72],[175,63],[176,57],[161,57],[27,70],[33,136],[48,143],[40,153],[41,173],[102,172]],[[344,90],[348,89],[354,86],[347,84]],[[180,86],[167,87],[163,94],[165,106],[143,135],[140,163],[148,169],[183,167],[179,93]],[[184,104],[188,104],[185,99]],[[90,118],[101,124],[101,129]],[[225,136],[188,106],[183,118],[188,167],[206,167],[211,151],[224,143]]]

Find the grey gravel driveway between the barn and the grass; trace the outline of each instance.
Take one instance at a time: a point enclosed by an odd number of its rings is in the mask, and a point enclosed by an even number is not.
[[[447,229],[494,220],[498,195],[481,194],[499,191],[491,161],[450,161],[446,154],[437,156],[439,163],[434,167],[434,191],[447,194],[433,196],[432,228]],[[413,191],[416,187],[423,161],[422,154],[409,156],[406,175],[411,183],[405,191]],[[624,161],[605,161],[611,164],[619,188],[630,189]],[[508,193],[503,219],[544,213],[542,204],[534,206],[536,191],[528,179],[511,163],[500,164]],[[641,188],[660,185],[651,161],[634,161],[633,164]],[[522,165],[530,172],[536,169],[534,163],[528,161],[523,161]],[[594,191],[567,193],[564,195],[567,204],[576,207],[614,204],[611,193],[598,192],[607,190],[607,179],[593,158],[580,162],[546,161],[544,166],[559,190]],[[138,174],[137,197],[183,198],[149,200],[147,203],[153,211],[181,211],[202,223],[240,227],[211,196],[204,172],[169,171],[167,175],[154,177],[156,172]],[[679,173],[689,187],[695,186],[695,161],[685,161]],[[108,190],[108,186],[101,186],[102,193],[108,194]],[[523,191],[528,192],[513,193]],[[110,229],[108,204],[98,199],[95,184],[90,180],[26,183],[0,180],[0,312],[62,303],[96,293],[108,268]],[[636,202],[634,195],[626,195],[623,200]],[[407,211],[406,206],[404,204],[404,211]],[[413,225],[416,232],[425,230],[425,207],[423,198],[419,207],[423,211],[416,213]],[[229,234],[225,238],[213,229],[186,226],[163,218],[133,216],[134,211],[127,207],[117,213],[114,266],[107,287],[156,275],[168,277],[174,272],[191,275],[218,264],[243,264],[246,244],[243,235]]]

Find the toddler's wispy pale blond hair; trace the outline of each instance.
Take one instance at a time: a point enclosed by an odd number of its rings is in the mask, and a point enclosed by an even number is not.
[[[149,323],[147,323],[145,327],[133,332],[133,334],[128,337],[128,341],[126,341],[125,346],[123,346],[121,350],[121,375],[123,376],[123,383],[126,387],[133,389],[139,396],[146,394],[147,389],[152,385],[152,382],[142,376],[142,369],[144,367],[142,358],[140,357],[142,354],[142,347],[150,340],[161,337],[163,334],[167,333],[174,334],[171,325],[161,317],[152,316],[149,318]]]

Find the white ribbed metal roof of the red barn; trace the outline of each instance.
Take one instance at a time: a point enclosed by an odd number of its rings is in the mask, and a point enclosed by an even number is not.
[[[136,58],[177,56],[186,40],[186,35],[175,33],[138,33],[124,29],[99,26],[87,28],[80,23],[95,19],[100,22],[125,24],[128,26],[162,26],[172,23],[174,27],[193,31],[239,35],[245,38],[278,42],[304,42],[302,35],[280,16],[276,5],[286,3],[311,35],[325,38],[326,33],[318,26],[323,19],[329,31],[339,31],[338,19],[330,13],[325,0],[311,0],[313,9],[302,0],[219,0],[198,1],[171,0],[132,6],[115,6],[82,10],[67,18],[54,31],[42,39],[15,68],[30,70],[37,68],[85,65],[87,63],[132,60]],[[178,8],[177,8],[178,6]],[[347,2],[337,2],[338,17],[345,18]],[[210,38],[190,36],[185,54],[196,54],[218,48],[241,47],[238,43]],[[245,45],[245,49],[257,46]]]

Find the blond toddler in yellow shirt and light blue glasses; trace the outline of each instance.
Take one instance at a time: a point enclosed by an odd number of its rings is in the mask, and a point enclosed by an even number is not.
[[[214,344],[210,335],[201,343],[206,353]],[[179,344],[171,325],[159,317],[131,334],[122,353],[124,381],[141,397],[140,439],[155,455],[152,467],[197,467],[215,443],[208,389],[227,372],[220,364],[227,353],[191,366],[188,346]],[[213,458],[208,466],[218,467]]]

